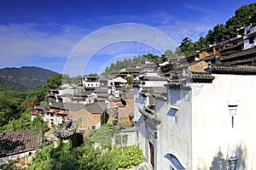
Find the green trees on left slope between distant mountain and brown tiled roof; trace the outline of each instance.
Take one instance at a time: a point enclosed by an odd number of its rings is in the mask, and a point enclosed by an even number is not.
[[[34,105],[46,104],[48,93],[49,88],[41,86],[27,92],[0,91],[0,132],[44,127],[41,119],[31,122],[30,111]]]

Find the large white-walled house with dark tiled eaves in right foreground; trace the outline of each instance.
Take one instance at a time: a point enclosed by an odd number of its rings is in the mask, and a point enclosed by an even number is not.
[[[256,67],[215,66],[166,83],[134,89],[137,143],[154,169],[214,170],[235,158],[237,169],[256,168]]]

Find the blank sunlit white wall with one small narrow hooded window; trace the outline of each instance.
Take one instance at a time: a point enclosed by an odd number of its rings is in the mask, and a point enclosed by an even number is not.
[[[213,75],[193,83],[192,169],[209,169],[218,151],[226,160],[236,151],[238,169],[256,169],[256,76]],[[239,100],[234,128],[228,101]]]

